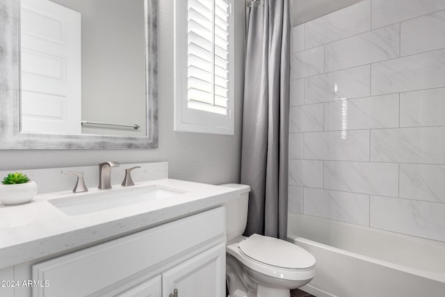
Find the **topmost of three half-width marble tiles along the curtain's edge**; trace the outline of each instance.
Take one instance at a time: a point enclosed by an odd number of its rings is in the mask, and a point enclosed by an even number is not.
[[[325,72],[325,47],[291,54],[291,79],[301,79]]]

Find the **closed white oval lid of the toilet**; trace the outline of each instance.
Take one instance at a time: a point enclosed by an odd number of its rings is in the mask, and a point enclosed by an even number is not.
[[[293,243],[253,234],[239,243],[244,255],[281,268],[306,269],[315,265],[314,256]]]

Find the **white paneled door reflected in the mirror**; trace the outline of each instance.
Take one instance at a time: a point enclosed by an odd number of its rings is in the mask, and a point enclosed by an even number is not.
[[[22,131],[81,133],[81,14],[22,0]]]

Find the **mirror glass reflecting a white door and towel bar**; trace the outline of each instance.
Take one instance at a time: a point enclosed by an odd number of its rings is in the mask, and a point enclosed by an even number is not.
[[[22,0],[22,132],[147,136],[145,3]]]

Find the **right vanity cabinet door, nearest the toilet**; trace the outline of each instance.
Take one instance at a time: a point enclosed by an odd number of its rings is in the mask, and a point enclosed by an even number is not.
[[[162,297],[177,289],[178,297],[225,297],[225,244],[162,273]]]

